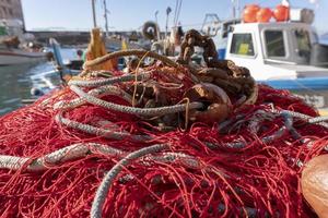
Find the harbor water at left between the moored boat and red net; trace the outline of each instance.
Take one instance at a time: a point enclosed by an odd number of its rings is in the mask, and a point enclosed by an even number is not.
[[[67,60],[77,58],[77,50],[73,48],[61,49],[61,53]],[[51,62],[39,63],[34,66],[0,66],[0,116],[24,107],[22,100],[31,98],[32,77],[51,71],[54,68]]]

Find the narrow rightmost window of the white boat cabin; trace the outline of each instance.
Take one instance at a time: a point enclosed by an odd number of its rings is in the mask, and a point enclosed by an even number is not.
[[[296,29],[294,32],[297,43],[297,55],[302,58],[309,59],[311,56],[311,40],[307,31]]]

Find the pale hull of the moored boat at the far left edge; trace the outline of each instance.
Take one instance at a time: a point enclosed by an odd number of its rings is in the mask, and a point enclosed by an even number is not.
[[[35,64],[46,60],[45,52],[28,52],[20,49],[0,50],[0,66]]]

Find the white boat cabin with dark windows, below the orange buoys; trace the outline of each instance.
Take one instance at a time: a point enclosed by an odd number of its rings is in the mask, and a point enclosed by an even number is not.
[[[318,37],[308,24],[243,23],[232,28],[225,58],[248,68],[257,80],[328,75],[328,69],[311,65]]]

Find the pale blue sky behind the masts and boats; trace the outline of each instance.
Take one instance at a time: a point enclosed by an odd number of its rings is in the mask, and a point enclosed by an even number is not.
[[[319,7],[309,3],[315,0],[290,0],[294,8],[311,8],[316,12],[315,26],[321,33],[328,32],[328,0],[317,0]],[[96,0],[97,21],[104,26],[103,0]],[[108,21],[110,31],[131,31],[140,27],[145,21],[154,20],[159,10],[159,23],[165,28],[165,10],[173,9],[176,0],[107,0],[110,11]],[[242,7],[258,3],[273,8],[281,0],[241,0]],[[91,0],[22,0],[27,29],[58,27],[65,29],[89,29],[93,26]],[[231,0],[185,0],[179,21],[183,25],[200,24],[206,13],[218,13],[221,19],[231,15]],[[197,26],[195,26],[197,27]]]

